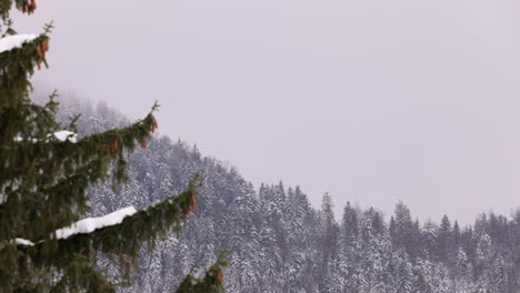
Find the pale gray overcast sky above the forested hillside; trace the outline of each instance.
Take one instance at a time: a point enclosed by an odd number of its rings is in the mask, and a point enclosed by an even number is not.
[[[53,19],[51,87],[230,161],[390,212],[470,222],[520,206],[520,2],[38,2]]]

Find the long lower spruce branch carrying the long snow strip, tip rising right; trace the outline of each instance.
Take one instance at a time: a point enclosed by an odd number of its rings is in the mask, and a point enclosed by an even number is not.
[[[34,281],[32,279],[36,276],[27,275],[24,272],[47,271],[49,273],[49,270],[54,275],[64,277],[67,274],[63,270],[70,267],[77,255],[86,256],[94,265],[96,256],[102,252],[112,260],[119,260],[122,267],[121,275],[123,280],[129,280],[144,243],[152,249],[156,241],[166,236],[170,230],[180,231],[187,215],[194,209],[198,186],[200,186],[200,181],[197,176],[178,196],[168,198],[163,202],[136,213],[124,213],[122,214],[124,216],[120,215],[121,221],[118,219],[113,221],[113,216],[109,216],[112,218],[110,220],[112,222],[96,219],[91,221],[98,223],[94,228],[84,229],[83,225],[82,229],[74,229],[74,225],[71,225],[66,230],[49,234],[46,239],[27,240],[21,236],[23,240],[0,243],[0,261],[9,264],[0,266],[0,279],[19,280],[20,284],[28,285],[27,283]],[[109,225],[106,225],[107,223]],[[87,226],[89,224],[87,223]],[[63,231],[68,232],[63,233]],[[14,267],[18,269],[12,270]],[[82,280],[78,279],[81,282]],[[38,282],[34,281],[34,283]],[[71,280],[67,282],[70,283]],[[6,287],[9,287],[9,284],[6,284]]]

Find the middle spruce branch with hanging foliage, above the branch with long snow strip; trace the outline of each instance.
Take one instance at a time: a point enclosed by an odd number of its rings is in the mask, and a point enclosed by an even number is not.
[[[111,163],[113,183],[124,181],[124,150],[133,150],[138,141],[143,144],[156,128],[156,119],[150,112],[128,128],[86,137],[77,143],[67,138],[29,142],[26,139],[12,152],[1,150],[6,154],[2,155],[7,161],[4,165],[12,168],[0,169],[4,185],[4,199],[0,203],[0,240],[17,238],[21,231],[26,233],[23,236],[38,239],[77,221],[88,210],[89,184],[107,180]],[[46,152],[48,155],[36,155]],[[16,184],[6,185],[8,179]]]

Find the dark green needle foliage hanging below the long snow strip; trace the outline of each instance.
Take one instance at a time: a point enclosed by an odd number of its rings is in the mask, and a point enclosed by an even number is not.
[[[57,271],[70,265],[74,255],[82,254],[96,259],[98,252],[103,252],[111,259],[117,257],[124,264],[122,272],[130,277],[131,267],[137,262],[143,243],[151,250],[159,236],[166,236],[173,229],[177,233],[187,218],[187,211],[192,210],[198,179],[190,182],[189,188],[178,196],[167,200],[126,216],[120,224],[106,226],[91,233],[74,234],[67,239],[41,241],[32,246],[18,245],[19,264],[34,267],[54,267]],[[2,253],[8,251],[0,250]],[[2,269],[0,267],[0,274]]]

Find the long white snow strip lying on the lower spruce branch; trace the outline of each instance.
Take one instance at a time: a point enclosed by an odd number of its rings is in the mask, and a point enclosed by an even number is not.
[[[62,228],[56,231],[57,239],[68,239],[76,234],[91,233],[94,230],[106,226],[120,224],[126,216],[137,213],[133,206],[127,206],[113,213],[109,213],[98,218],[87,218],[73,223],[70,226]]]

